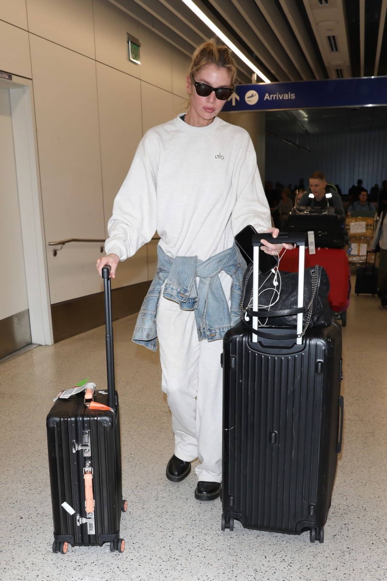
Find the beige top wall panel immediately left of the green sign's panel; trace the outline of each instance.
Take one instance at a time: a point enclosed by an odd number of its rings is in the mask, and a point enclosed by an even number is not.
[[[95,58],[92,0],[27,0],[28,30]]]

